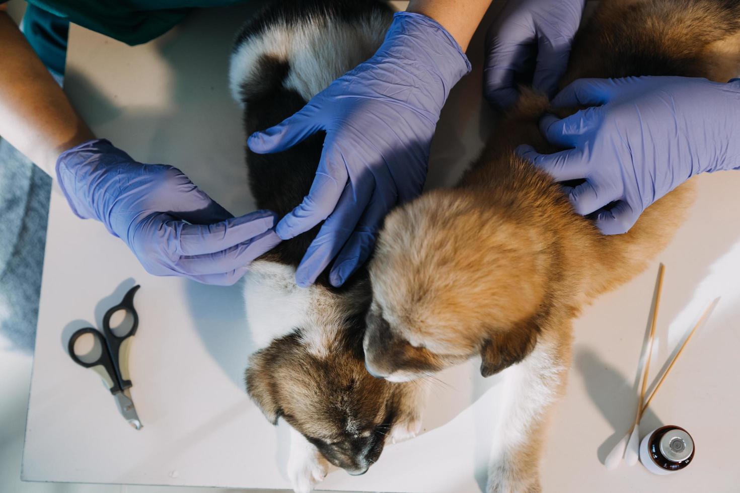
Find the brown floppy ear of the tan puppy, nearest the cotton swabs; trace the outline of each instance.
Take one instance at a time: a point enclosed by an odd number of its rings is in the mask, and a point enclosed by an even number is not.
[[[534,319],[492,331],[480,350],[480,374],[489,377],[522,361],[534,349],[538,335],[539,325]]]

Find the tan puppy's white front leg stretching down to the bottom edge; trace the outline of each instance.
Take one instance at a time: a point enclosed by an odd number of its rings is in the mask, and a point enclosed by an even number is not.
[[[565,387],[571,351],[567,333],[541,336],[508,370],[506,401],[494,437],[488,493],[539,493],[539,455],[548,411]]]

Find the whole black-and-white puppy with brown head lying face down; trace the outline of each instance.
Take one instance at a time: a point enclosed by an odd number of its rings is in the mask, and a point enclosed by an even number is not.
[[[247,135],[289,117],[334,78],[371,57],[392,13],[373,0],[275,1],[243,27],[231,55],[232,95],[243,106]],[[283,216],[314,179],[323,134],[279,154],[247,149],[249,183],[259,208]],[[295,285],[297,267],[318,227],[284,241],[252,264],[244,285],[249,328],[258,350],[246,389],[273,424],[292,429],[289,477],[306,492],[327,461],[352,475],[367,471],[383,444],[416,435],[418,386],[367,373],[366,271],[340,289],[324,272],[310,288]]]

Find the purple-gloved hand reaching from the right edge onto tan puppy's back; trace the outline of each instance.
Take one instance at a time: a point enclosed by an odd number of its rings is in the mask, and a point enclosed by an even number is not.
[[[517,152],[555,180],[585,178],[565,191],[579,214],[597,211],[605,234],[625,233],[648,205],[695,174],[740,168],[740,80],[581,79],[553,105],[591,106],[562,120],[542,118],[545,137],[569,150]]]

